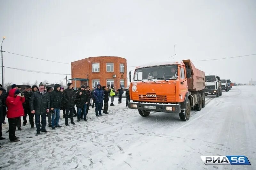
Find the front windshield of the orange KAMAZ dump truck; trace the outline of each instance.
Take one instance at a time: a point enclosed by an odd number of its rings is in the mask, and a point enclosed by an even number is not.
[[[135,70],[133,80],[150,80],[150,79],[177,79],[177,65],[162,65],[145,67]]]

